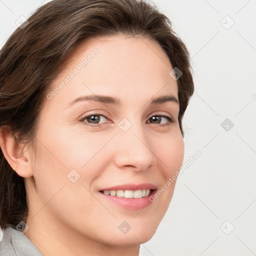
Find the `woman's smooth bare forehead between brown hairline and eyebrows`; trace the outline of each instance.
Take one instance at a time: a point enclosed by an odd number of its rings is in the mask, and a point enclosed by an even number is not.
[[[61,91],[53,99],[61,101],[65,97],[63,104],[92,93],[117,95],[127,100],[129,97],[139,100],[158,92],[177,97],[177,83],[169,75],[171,70],[168,56],[150,38],[95,37],[80,43],[70,54],[50,91],[62,83]]]

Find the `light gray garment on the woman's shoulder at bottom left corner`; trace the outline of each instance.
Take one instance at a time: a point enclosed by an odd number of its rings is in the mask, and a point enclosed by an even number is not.
[[[0,256],[43,256],[35,245],[14,226],[3,231]]]

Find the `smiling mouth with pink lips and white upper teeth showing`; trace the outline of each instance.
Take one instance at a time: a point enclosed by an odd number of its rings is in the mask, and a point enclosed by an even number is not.
[[[125,184],[99,190],[105,200],[129,210],[139,210],[149,206],[149,198],[156,192],[156,186],[149,183]]]

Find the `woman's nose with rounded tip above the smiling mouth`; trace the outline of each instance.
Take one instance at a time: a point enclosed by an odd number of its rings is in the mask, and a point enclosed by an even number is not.
[[[142,124],[132,124],[127,131],[119,130],[115,136],[114,161],[118,168],[135,171],[147,170],[157,161],[150,134],[145,134]]]

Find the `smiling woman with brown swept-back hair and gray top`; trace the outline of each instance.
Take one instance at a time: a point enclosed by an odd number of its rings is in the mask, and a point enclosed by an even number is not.
[[[0,255],[138,255],[184,155],[189,55],[135,0],[53,0],[0,52]]]

